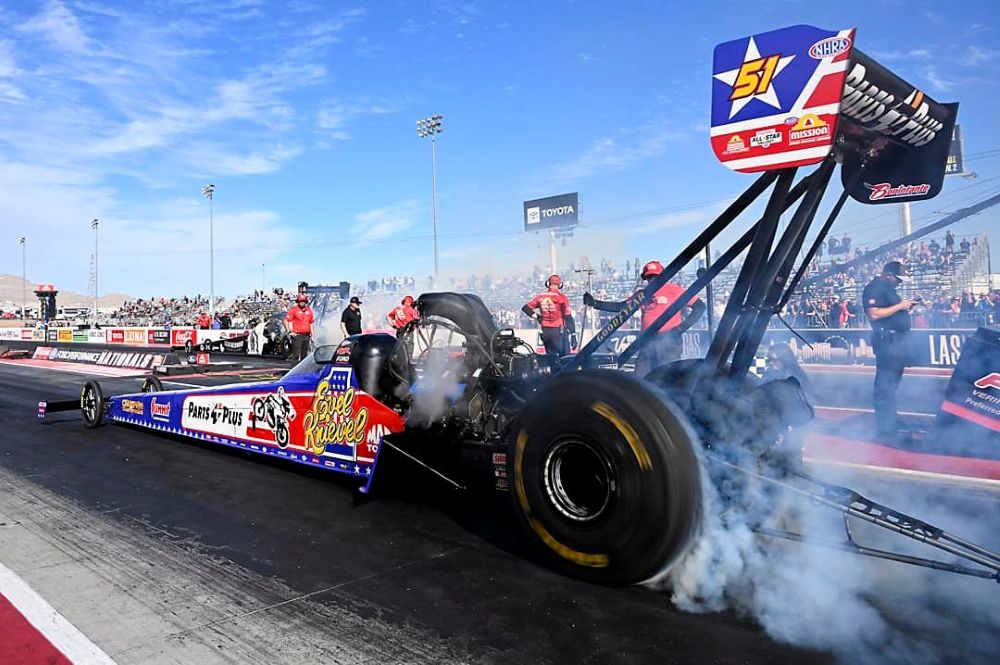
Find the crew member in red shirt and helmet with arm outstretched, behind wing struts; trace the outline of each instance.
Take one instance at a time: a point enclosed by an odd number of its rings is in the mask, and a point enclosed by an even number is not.
[[[663,264],[659,261],[650,261],[642,267],[642,278],[647,282],[663,272]],[[676,301],[686,289],[680,284],[667,282],[659,288],[649,301],[640,306],[642,312],[642,329],[646,330],[659,318],[660,314],[667,311],[667,308]],[[638,293],[638,291],[636,292]],[[632,296],[634,298],[635,295]],[[631,300],[632,298],[629,298]],[[622,302],[611,302],[595,300],[589,293],[583,294],[583,304],[594,309],[606,312],[620,311],[629,300]],[[689,313],[681,317],[684,309],[689,309]],[[681,333],[694,325],[695,321],[705,313],[705,303],[697,296],[691,298],[687,305],[680,312],[674,314],[664,323],[652,340],[650,340],[635,361],[635,371],[639,376],[645,376],[660,365],[665,365],[671,361],[678,360],[683,351],[683,338]]]

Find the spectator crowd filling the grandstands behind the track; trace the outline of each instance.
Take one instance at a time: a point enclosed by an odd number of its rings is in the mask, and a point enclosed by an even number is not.
[[[794,327],[865,328],[868,326],[860,302],[861,289],[874,278],[888,260],[900,260],[914,276],[908,297],[918,300],[913,310],[915,327],[974,327],[1000,321],[1000,290],[986,292],[953,292],[948,277],[955,273],[979,243],[978,238],[957,239],[950,231],[940,240],[921,240],[896,248],[889,253],[863,259],[867,248],[855,247],[848,236],[829,238],[823,252],[807,268],[805,277],[826,275],[802,289],[786,305],[782,316]],[[825,258],[824,258],[825,254]],[[718,253],[716,258],[718,257]],[[640,258],[614,261],[602,258],[592,266],[571,264],[563,271],[563,291],[570,298],[574,316],[583,326],[592,328],[607,319],[606,313],[587,311],[582,295],[590,291],[599,300],[621,300],[639,288]],[[724,271],[714,283],[713,312],[722,314],[739,272],[734,265]],[[526,328],[533,322],[521,311],[544,284],[547,272],[535,266],[523,275],[469,275],[451,277],[440,288],[478,294],[503,327]],[[677,281],[689,284],[693,273],[681,273]],[[423,281],[423,280],[421,280]],[[433,279],[428,277],[428,288]],[[391,296],[419,295],[417,280],[410,276],[372,278],[355,286],[352,294]],[[245,296],[226,301],[218,298],[214,317],[207,312],[208,298],[202,295],[180,298],[138,298],[126,301],[112,313],[101,316],[104,325],[126,326],[196,326],[241,329],[270,315],[286,311],[292,305],[292,290],[275,287],[270,291],[255,290]],[[366,312],[372,322],[380,321],[381,312]],[[704,322],[702,322],[704,325]]]

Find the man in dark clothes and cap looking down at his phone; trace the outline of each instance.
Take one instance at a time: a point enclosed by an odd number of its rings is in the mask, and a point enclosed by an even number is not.
[[[879,440],[887,442],[899,437],[896,389],[910,360],[907,337],[910,310],[916,304],[896,293],[904,277],[906,267],[899,261],[890,261],[861,295],[865,314],[872,324],[872,348],[875,350],[875,386],[872,390],[875,434]]]

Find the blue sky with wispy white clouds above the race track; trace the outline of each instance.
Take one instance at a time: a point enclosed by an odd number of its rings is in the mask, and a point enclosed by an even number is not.
[[[714,45],[808,23],[940,101],[960,101],[976,180],[919,225],[997,191],[1000,43],[992,2],[19,0],[0,6],[0,274],[86,293],[216,292],[547,261],[521,202],[579,191],[560,263],[669,258],[752,176],[708,141]],[[828,195],[832,199],[833,195]],[[835,232],[888,239],[895,206],[851,203]],[[997,213],[959,227],[996,228]]]

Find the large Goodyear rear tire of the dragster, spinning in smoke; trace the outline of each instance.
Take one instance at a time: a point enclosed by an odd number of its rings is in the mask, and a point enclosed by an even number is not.
[[[669,569],[695,539],[697,436],[656,386],[607,370],[557,377],[510,436],[517,511],[557,570],[636,584]]]

